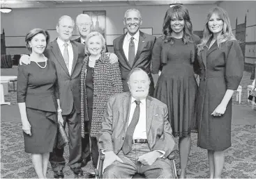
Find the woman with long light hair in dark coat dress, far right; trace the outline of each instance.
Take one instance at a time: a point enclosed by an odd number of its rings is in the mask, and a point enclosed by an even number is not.
[[[243,53],[222,8],[207,15],[198,55],[198,146],[208,150],[210,178],[220,178],[231,146],[232,94],[243,76]]]

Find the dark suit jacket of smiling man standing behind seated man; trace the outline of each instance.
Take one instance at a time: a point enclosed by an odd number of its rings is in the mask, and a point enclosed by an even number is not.
[[[123,51],[123,40],[126,37],[126,34],[117,37],[114,44],[114,53],[118,57],[119,67],[121,70],[121,78],[123,82],[123,92],[129,92],[129,87],[127,84],[127,77],[130,71],[136,67],[143,67],[146,70],[146,73],[151,78],[151,85],[149,87],[149,95],[153,96],[153,78],[151,76],[151,53],[153,49],[153,44],[156,40],[156,37],[153,35],[149,35],[146,33],[142,33],[140,31],[139,45],[137,49],[137,53],[135,56],[135,60],[133,62],[133,66],[129,65],[128,59]]]

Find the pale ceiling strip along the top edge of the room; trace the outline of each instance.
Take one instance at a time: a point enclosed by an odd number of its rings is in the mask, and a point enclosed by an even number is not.
[[[8,6],[8,8],[68,8],[68,7],[92,7],[92,6],[153,6],[153,5],[168,5],[170,3],[183,4],[213,4],[220,1],[184,1],[184,0],[73,0],[73,1],[23,1],[23,0],[1,0],[1,6]]]

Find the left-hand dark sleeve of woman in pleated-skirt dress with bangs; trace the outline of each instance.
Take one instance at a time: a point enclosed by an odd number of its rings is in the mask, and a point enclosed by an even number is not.
[[[151,71],[152,74],[158,74],[161,67],[161,53],[162,53],[162,42],[163,38],[158,37],[152,49],[151,58]]]

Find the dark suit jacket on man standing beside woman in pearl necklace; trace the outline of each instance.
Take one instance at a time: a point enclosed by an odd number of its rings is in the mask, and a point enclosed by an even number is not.
[[[80,74],[84,59],[84,46],[73,41],[70,43],[74,53],[71,75],[68,73],[57,40],[50,42],[44,52],[45,56],[54,62],[57,70],[59,98],[63,115],[70,114],[73,105],[75,105],[76,112],[80,113]]]

